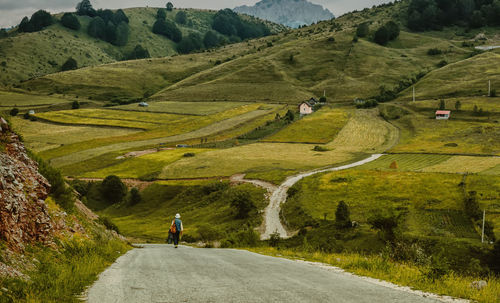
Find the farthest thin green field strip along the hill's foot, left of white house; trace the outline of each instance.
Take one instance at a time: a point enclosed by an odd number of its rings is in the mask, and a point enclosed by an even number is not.
[[[213,115],[221,111],[245,105],[241,102],[150,102],[148,107],[139,107],[138,104],[128,104],[113,107],[112,109],[130,110],[152,113],[171,113],[181,115]]]

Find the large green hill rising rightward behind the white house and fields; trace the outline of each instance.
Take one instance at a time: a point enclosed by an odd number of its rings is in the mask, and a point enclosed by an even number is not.
[[[336,20],[209,53],[156,61],[119,62],[47,75],[20,86],[42,94],[64,92],[69,96],[104,101],[151,96],[151,101],[295,104],[326,93],[330,101],[339,102],[376,97],[381,87],[399,92],[426,75],[422,83],[417,84],[419,94],[424,90],[419,88],[428,85],[425,83],[439,89],[441,85],[433,80],[435,77],[446,78],[448,90],[453,90],[453,85],[462,81],[464,71],[467,71],[467,77],[481,82],[479,79],[483,78],[485,70],[467,68],[467,62],[495,66],[495,62],[500,61],[494,51],[476,56],[479,52],[471,45],[478,43],[474,44],[470,39],[481,30],[471,30],[467,34],[455,28],[442,32],[408,31],[401,21],[405,3],[347,14]],[[147,9],[133,11],[137,14],[148,12]],[[373,33],[391,18],[400,20],[399,37],[385,46],[372,42]],[[353,41],[357,25],[364,22],[369,24],[370,34]],[[496,41],[496,32],[493,28],[485,29],[491,43]],[[429,55],[429,49],[439,49],[441,53]],[[165,71],[179,66],[187,68],[182,68],[180,74]],[[111,71],[118,72],[115,75],[119,76],[106,77]],[[500,78],[494,69],[490,71],[489,79],[499,85]],[[436,95],[431,89],[425,91],[425,96]],[[408,95],[407,92],[404,94]],[[464,91],[464,94],[468,93],[470,90]]]

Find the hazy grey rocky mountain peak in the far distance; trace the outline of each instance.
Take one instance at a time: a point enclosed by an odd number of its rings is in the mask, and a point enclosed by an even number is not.
[[[262,0],[254,6],[238,6],[234,11],[293,28],[335,18],[328,9],[307,0]]]

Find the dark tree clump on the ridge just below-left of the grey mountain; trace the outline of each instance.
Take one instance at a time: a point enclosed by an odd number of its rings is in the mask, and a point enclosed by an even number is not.
[[[238,14],[230,9],[223,9],[215,14],[212,28],[223,35],[235,36],[241,40],[270,34],[265,24],[242,20]]]

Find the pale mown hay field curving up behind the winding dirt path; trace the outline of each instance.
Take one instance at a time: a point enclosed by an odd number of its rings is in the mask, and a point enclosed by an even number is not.
[[[166,166],[160,178],[230,176],[256,171],[269,174],[272,170],[306,170],[351,161],[394,144],[397,130],[376,113],[356,111],[337,138],[326,145],[330,149],[326,152],[315,152],[310,144],[255,143],[206,152],[196,159],[181,159]]]

